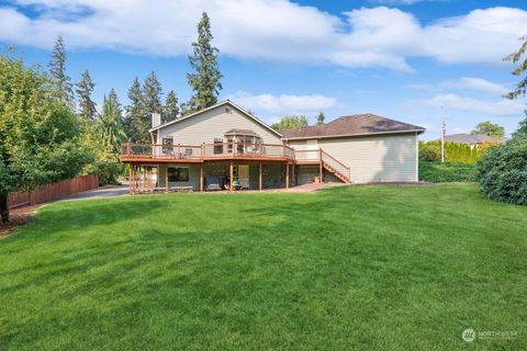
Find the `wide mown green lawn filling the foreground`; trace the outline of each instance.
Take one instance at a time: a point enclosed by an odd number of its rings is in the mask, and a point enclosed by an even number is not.
[[[56,203],[0,240],[0,350],[525,350],[526,228],[470,183]]]

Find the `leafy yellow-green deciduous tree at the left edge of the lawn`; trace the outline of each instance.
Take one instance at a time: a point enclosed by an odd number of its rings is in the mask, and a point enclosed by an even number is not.
[[[88,161],[81,124],[52,91],[51,78],[20,59],[0,56],[0,216],[8,195],[75,177]]]

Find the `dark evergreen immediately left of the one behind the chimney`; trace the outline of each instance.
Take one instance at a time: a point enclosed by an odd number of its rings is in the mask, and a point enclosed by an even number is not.
[[[125,107],[126,118],[124,120],[124,131],[130,141],[150,143],[148,135],[149,118],[145,118],[146,113],[143,104],[143,89],[139,79],[135,77],[132,87],[128,89],[130,105]],[[145,133],[146,131],[146,133]]]

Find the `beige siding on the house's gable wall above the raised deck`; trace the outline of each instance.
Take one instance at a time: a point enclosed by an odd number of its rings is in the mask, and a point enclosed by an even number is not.
[[[201,145],[214,143],[214,138],[223,139],[225,132],[236,129],[251,129],[258,133],[265,144],[282,144],[278,135],[247,117],[234,107],[221,105],[203,112],[188,120],[168,125],[159,129],[157,144],[161,144],[164,137],[173,137],[175,144]]]

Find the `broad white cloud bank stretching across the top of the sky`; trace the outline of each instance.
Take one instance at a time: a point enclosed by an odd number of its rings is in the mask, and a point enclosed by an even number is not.
[[[406,0],[408,1],[408,0]],[[63,34],[69,47],[178,56],[190,50],[206,10],[215,45],[235,58],[411,70],[408,57],[442,63],[494,63],[517,48],[527,11],[474,10],[422,25],[385,7],[346,12],[345,20],[287,0],[14,0],[29,18],[0,7],[0,41],[49,48]]]

